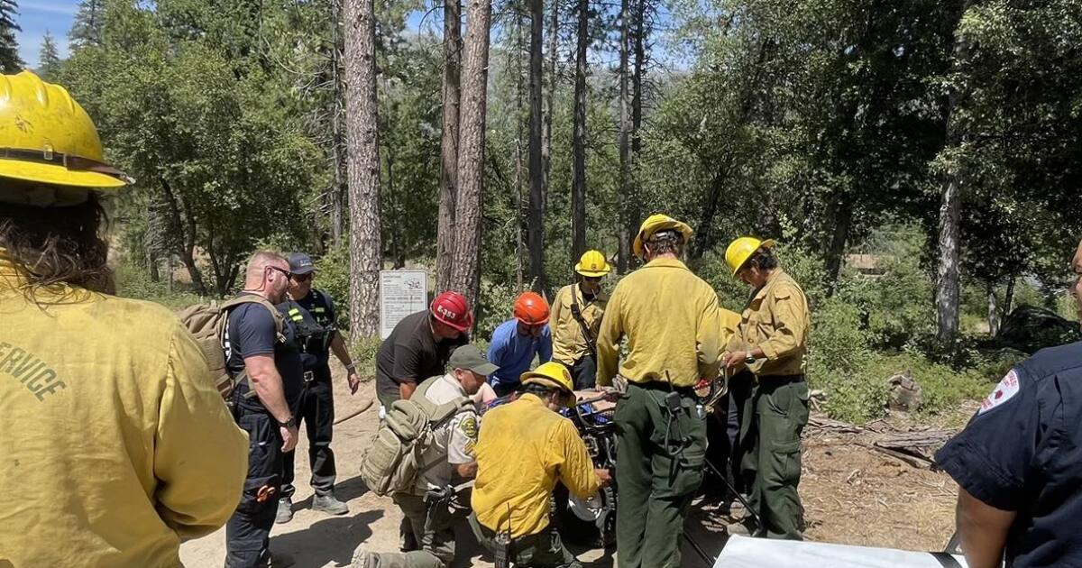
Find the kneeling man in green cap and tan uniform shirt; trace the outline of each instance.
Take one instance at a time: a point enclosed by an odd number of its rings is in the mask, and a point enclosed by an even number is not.
[[[497,370],[474,345],[454,349],[447,362],[451,372],[421,383],[410,396],[411,401],[421,398],[422,406],[432,408],[452,402],[463,405],[467,397],[477,394],[486,375]],[[447,568],[451,565],[454,559],[451,510],[461,510],[463,517],[466,510],[464,504],[459,506],[451,485],[477,473],[476,442],[477,412],[473,407],[464,406],[464,410],[449,421],[435,425],[432,444],[421,454],[413,492],[394,494],[421,550],[372,553],[361,549],[354,555],[353,568]]]

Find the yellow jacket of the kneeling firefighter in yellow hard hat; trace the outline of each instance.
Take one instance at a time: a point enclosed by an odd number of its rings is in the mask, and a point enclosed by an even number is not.
[[[481,525],[493,531],[510,526],[512,538],[540,532],[549,526],[549,500],[557,480],[583,499],[601,489],[586,445],[570,420],[535,395],[485,413],[472,499]]]

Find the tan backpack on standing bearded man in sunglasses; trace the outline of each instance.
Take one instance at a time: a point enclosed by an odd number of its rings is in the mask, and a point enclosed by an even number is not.
[[[225,327],[228,325],[228,314],[234,307],[242,304],[260,304],[266,307],[274,317],[275,333],[278,335],[278,342],[285,341],[285,335],[282,335],[281,331],[285,325],[281,313],[278,312],[278,308],[270,301],[261,295],[243,294],[226,302],[196,304],[184,308],[177,314],[184,326],[195,336],[199,349],[202,351],[207,362],[210,365],[211,377],[214,378],[214,386],[222,394],[222,398],[226,400],[229,399],[237,385],[243,380],[248,381],[248,393],[245,395],[245,398],[255,396],[255,388],[252,387],[251,378],[248,377],[247,369],[237,373],[236,377],[232,377],[229,370],[226,368]]]

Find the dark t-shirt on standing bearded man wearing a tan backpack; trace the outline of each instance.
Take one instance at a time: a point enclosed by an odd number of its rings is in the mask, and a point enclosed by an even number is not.
[[[278,341],[274,316],[265,306],[241,304],[234,307],[229,311],[229,323],[226,326],[226,368],[230,374],[236,375],[245,368],[245,357],[274,355],[286,401],[293,406],[303,386],[304,367],[296,345],[296,328],[288,318],[282,325],[281,333],[286,338],[283,342]],[[241,381],[237,385],[237,392],[241,395],[247,393],[248,381]],[[258,397],[248,401],[262,405]]]

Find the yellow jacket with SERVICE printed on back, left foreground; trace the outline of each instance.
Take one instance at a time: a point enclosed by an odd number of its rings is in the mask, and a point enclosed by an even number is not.
[[[0,559],[181,566],[180,543],[228,519],[248,471],[207,360],[163,307],[27,293],[0,249]]]

